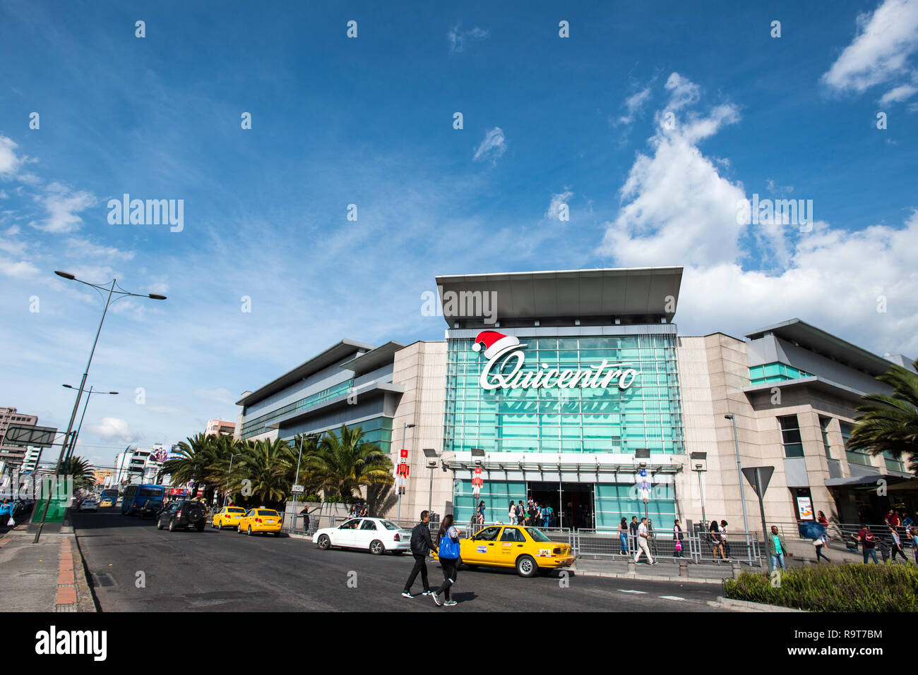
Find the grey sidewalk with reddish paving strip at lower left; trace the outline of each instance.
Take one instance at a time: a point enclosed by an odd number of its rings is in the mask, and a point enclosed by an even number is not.
[[[0,611],[95,612],[73,527],[42,533],[38,544],[26,527],[0,535]]]

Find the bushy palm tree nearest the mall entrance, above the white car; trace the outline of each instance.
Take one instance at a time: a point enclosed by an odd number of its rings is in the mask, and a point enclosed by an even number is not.
[[[341,497],[353,497],[361,486],[391,484],[392,462],[375,443],[364,441],[364,429],[341,425],[330,431],[306,461],[308,470],[319,477],[319,487]]]

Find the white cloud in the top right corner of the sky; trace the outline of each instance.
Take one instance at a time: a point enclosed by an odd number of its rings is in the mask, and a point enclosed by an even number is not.
[[[918,0],[884,0],[873,14],[857,17],[857,34],[823,83],[836,92],[862,94],[874,84],[908,74],[918,50]]]

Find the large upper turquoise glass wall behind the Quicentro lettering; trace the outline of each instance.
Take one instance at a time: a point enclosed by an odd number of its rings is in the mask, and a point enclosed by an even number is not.
[[[525,366],[584,371],[602,360],[639,371],[627,389],[481,387],[487,360],[471,338],[448,340],[443,449],[463,452],[681,453],[676,338],[673,335],[524,338]]]

